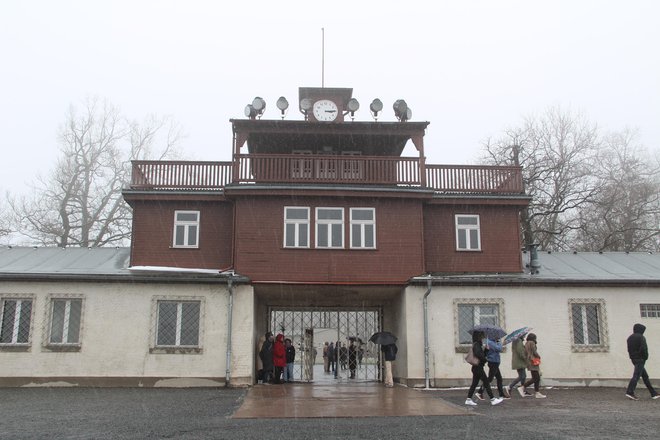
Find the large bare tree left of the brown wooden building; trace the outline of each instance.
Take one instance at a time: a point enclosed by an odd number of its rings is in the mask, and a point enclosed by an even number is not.
[[[130,160],[172,157],[179,133],[170,118],[127,121],[106,100],[87,99],[80,114],[71,106],[50,176],[37,179],[31,195],[8,198],[17,229],[47,246],[125,244],[131,212],[121,190],[130,178]]]

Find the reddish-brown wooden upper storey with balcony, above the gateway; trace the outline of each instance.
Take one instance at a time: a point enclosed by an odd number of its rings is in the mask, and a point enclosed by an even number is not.
[[[521,272],[519,167],[427,164],[428,122],[232,120],[228,162],[135,161],[133,266],[233,269],[254,282],[405,284],[425,273]],[[411,141],[419,157],[401,157]],[[247,146],[247,151],[244,147]],[[342,208],[344,247],[286,247],[284,207]],[[376,246],[351,249],[351,208],[373,208]],[[175,211],[199,212],[176,248]],[[478,215],[478,250],[457,250],[456,215]]]

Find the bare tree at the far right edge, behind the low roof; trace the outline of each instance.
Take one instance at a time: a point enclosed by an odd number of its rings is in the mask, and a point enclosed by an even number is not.
[[[660,250],[660,166],[636,138],[624,130],[605,139],[596,168],[602,190],[579,213],[579,250]]]

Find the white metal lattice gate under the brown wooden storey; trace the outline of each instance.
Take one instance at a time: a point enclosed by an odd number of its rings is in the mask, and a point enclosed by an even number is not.
[[[381,362],[379,346],[369,337],[380,330],[380,310],[282,309],[269,308],[269,328],[283,333],[296,348],[294,377],[304,382],[350,380],[348,346],[353,339],[357,351],[356,381],[379,381]],[[338,350],[337,379],[332,370],[324,371],[325,342],[339,342],[346,350]],[[343,356],[342,356],[343,354]]]

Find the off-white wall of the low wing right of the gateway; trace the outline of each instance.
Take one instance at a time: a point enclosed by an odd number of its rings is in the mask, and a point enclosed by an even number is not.
[[[426,287],[409,287],[406,291],[405,335],[407,344],[407,378],[424,378],[424,333],[422,297]],[[428,297],[430,378],[444,383],[471,377],[470,367],[457,353],[454,299],[502,298],[504,300],[502,326],[513,330],[525,325],[534,328],[538,350],[543,359],[542,374],[546,383],[588,380],[597,384],[600,379],[628,380],[632,365],[628,359],[626,339],[633,324],[647,327],[645,336],[650,358],[647,371],[652,378],[660,377],[660,319],[641,318],[640,303],[660,303],[660,289],[602,288],[602,287],[446,287],[434,286]],[[609,351],[604,353],[575,353],[571,349],[569,299],[602,299],[605,302],[606,329]],[[505,378],[513,378],[511,354],[502,354],[501,371]],[[577,379],[577,380],[576,380]],[[447,381],[448,380],[448,381]]]

